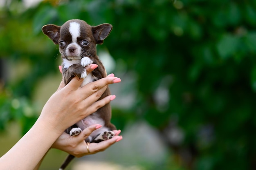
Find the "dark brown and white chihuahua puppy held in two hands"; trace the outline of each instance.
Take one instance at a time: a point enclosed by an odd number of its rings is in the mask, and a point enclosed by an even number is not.
[[[47,35],[54,44],[59,45],[59,51],[62,62],[63,81],[68,84],[75,76],[83,78],[81,86],[85,86],[97,79],[106,77],[106,70],[96,54],[96,45],[102,44],[103,40],[108,37],[112,30],[111,24],[100,24],[98,26],[90,26],[83,20],[68,20],[62,26],[48,24],[42,27],[42,31]],[[97,64],[98,67],[87,75],[85,66],[89,64]],[[109,88],[99,98],[102,99],[110,95]],[[101,124],[102,127],[92,132],[85,139],[86,142],[100,142],[111,139],[114,136],[115,125],[110,123],[111,107],[106,104],[99,108],[97,112],[92,113],[74,126],[66,130],[72,136],[79,133],[92,124]],[[68,163],[74,158],[69,155],[61,168],[63,170]]]

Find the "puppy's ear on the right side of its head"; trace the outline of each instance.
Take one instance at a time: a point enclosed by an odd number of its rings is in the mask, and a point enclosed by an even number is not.
[[[113,26],[111,24],[100,24],[98,26],[92,26],[92,33],[97,44],[102,44],[103,40],[108,37]]]

